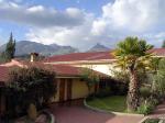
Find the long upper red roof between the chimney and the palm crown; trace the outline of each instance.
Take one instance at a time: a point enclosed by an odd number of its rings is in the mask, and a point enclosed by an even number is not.
[[[110,52],[94,52],[94,53],[73,53],[66,55],[56,55],[46,58],[44,62],[75,62],[75,60],[99,60],[99,59],[113,59]]]

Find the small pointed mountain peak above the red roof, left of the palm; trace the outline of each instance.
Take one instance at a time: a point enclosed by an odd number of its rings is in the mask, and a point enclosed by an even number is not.
[[[92,46],[88,52],[106,52],[109,51],[110,48],[97,43],[95,46]]]

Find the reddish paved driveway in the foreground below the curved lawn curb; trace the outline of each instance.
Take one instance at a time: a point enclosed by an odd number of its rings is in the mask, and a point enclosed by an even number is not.
[[[139,123],[142,116],[119,116],[95,112],[84,107],[52,107],[57,123]]]

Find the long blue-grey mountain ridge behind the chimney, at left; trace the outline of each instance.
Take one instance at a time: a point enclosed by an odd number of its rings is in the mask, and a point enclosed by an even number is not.
[[[78,49],[72,47],[72,46],[61,46],[57,44],[52,45],[44,45],[36,42],[31,41],[20,41],[16,42],[15,46],[15,55],[22,56],[30,54],[32,52],[40,53],[41,55],[47,56],[47,55],[61,55],[66,53],[75,53],[78,52]],[[6,44],[0,46],[0,52],[3,52],[6,49]]]

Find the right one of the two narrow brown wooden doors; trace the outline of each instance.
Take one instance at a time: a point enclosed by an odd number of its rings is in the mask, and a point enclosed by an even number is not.
[[[67,100],[72,100],[73,79],[67,79]]]

